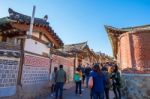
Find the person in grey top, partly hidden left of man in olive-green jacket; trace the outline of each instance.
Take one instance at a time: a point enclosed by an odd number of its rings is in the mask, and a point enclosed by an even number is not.
[[[56,82],[55,82],[55,79],[56,79],[56,73],[57,73],[57,67],[54,67],[54,71],[52,72],[52,75],[51,75],[51,96],[54,96],[54,93],[56,92]]]

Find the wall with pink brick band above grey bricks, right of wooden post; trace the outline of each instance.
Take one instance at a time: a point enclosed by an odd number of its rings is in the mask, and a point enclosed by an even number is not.
[[[50,92],[49,69],[49,58],[25,53],[21,86],[17,86],[15,95],[4,99],[33,99],[48,94]]]

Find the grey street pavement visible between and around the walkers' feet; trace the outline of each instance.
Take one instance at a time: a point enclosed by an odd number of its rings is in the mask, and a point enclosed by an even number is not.
[[[90,91],[88,88],[83,87],[82,89],[82,96],[75,94],[75,88],[68,88],[64,90],[63,99],[90,99]],[[114,95],[113,92],[110,91],[110,99],[113,99]],[[39,97],[37,99],[55,99],[54,97],[48,95],[45,97]]]

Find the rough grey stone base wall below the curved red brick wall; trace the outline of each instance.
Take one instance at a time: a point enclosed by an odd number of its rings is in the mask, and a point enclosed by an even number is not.
[[[150,99],[150,74],[122,74],[124,99]]]

